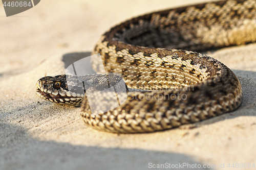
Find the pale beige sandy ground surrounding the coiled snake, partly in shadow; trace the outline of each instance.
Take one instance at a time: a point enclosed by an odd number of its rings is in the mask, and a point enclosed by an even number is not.
[[[198,2],[202,1],[193,1]],[[84,126],[79,108],[53,104],[35,94],[39,78],[63,74],[67,62],[88,55],[100,35],[115,24],[189,3],[45,0],[11,17],[5,17],[0,5],[0,169],[148,169],[165,163],[216,165],[209,169],[233,169],[229,163],[243,163],[239,169],[249,163],[256,166],[256,44],[209,53],[237,74],[244,99],[238,110],[194,129],[99,132]]]

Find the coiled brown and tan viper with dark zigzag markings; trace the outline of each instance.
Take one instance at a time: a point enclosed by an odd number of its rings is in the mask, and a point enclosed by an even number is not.
[[[37,81],[36,93],[50,102],[80,106],[83,122],[96,130],[146,133],[173,129],[234,111],[242,102],[237,76],[223,63],[198,52],[255,40],[255,0],[157,11],[124,21],[100,37],[92,55],[100,54],[106,74],[47,76]],[[99,62],[91,63],[100,72]],[[97,101],[111,103],[110,91],[104,91],[111,87],[120,89],[115,92],[126,100],[102,112],[104,106]],[[94,93],[95,107],[101,108],[97,114],[87,95],[91,88],[104,91]]]

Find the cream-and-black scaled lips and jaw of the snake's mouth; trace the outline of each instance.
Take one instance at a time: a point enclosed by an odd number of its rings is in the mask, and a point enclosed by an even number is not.
[[[66,95],[60,95],[59,91],[56,90],[48,90],[46,88],[43,88],[40,86],[40,82],[38,81],[36,83],[36,94],[44,100],[53,102],[53,103],[58,103],[58,104],[65,104],[65,105],[70,105],[70,106],[79,106],[81,101],[82,101],[82,97],[83,96],[73,96],[70,95],[72,94],[71,92],[65,92]],[[70,96],[68,96],[70,95]]]

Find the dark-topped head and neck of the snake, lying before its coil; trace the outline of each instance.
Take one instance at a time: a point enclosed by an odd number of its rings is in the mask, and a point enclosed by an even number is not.
[[[115,86],[116,92],[128,91],[124,82],[121,84],[125,86],[117,85],[120,81],[123,82],[121,77],[106,74],[79,77],[71,75],[47,76],[37,81],[36,94],[50,102],[80,106],[86,90],[89,93],[102,90],[108,91],[110,87]]]

